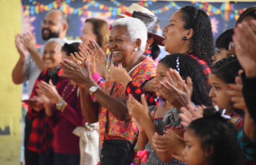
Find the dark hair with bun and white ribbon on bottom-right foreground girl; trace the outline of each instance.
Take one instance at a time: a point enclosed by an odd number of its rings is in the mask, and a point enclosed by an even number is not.
[[[211,154],[207,165],[244,164],[243,153],[236,144],[238,129],[220,114],[221,110],[207,108],[204,117],[193,120],[186,131],[198,137],[203,151]]]

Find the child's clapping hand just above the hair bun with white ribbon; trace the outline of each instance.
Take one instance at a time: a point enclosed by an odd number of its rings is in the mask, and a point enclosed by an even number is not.
[[[182,113],[179,114],[182,119],[181,125],[187,127],[193,120],[203,117],[203,109],[206,107],[197,106],[193,107],[192,104],[188,104],[187,107],[180,108]]]

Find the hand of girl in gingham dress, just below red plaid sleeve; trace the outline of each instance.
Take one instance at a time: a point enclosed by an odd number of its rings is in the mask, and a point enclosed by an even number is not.
[[[148,104],[144,94],[141,95],[141,102],[142,104],[132,94],[129,95],[129,100],[127,101],[129,115],[136,120],[140,120],[143,116],[148,115]]]

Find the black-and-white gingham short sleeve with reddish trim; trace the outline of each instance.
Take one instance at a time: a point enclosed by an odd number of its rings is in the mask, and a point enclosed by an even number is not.
[[[165,125],[165,129],[185,129],[180,123],[182,121],[179,117],[180,113],[181,111],[177,108],[171,108],[166,115],[164,115],[163,123]]]

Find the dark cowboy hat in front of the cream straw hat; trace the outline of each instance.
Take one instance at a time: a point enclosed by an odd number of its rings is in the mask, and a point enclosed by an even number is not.
[[[143,21],[148,29],[148,35],[154,38],[157,45],[164,46],[162,44],[164,38],[156,34],[157,27],[159,26],[159,19],[157,16],[148,13],[143,13],[140,11],[134,11],[131,17],[138,18],[141,21]]]

